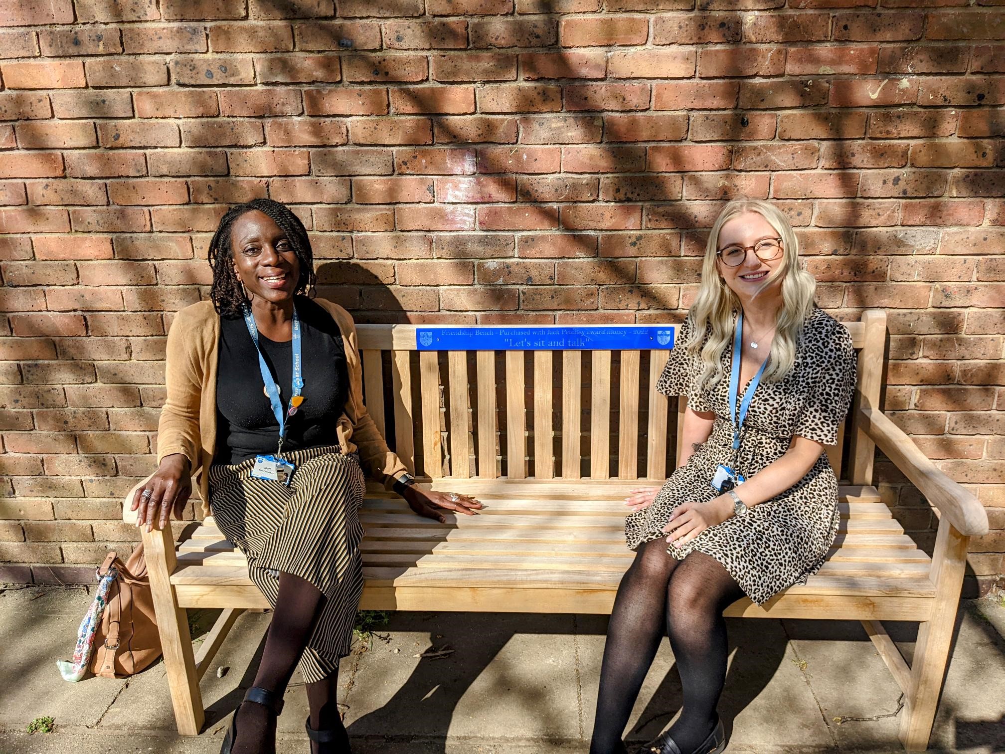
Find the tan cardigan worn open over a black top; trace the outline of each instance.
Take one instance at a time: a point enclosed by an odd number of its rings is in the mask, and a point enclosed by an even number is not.
[[[332,315],[346,349],[349,400],[336,426],[342,452],[359,452],[363,470],[390,490],[407,469],[388,448],[363,405],[362,365],[353,318],[338,304],[314,301]],[[191,461],[192,473],[198,475],[203,518],[210,514],[209,466],[216,450],[219,340],[220,316],[211,302],[193,304],[175,316],[168,333],[167,400],[158,426],[157,461],[172,453],[182,453]]]

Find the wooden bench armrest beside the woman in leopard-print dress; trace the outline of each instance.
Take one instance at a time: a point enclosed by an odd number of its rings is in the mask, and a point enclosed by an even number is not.
[[[939,470],[921,448],[877,408],[860,408],[861,429],[965,537],[988,533],[988,513],[973,495]]]

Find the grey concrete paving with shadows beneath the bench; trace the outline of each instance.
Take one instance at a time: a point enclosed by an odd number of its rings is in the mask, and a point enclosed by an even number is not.
[[[2,588],[2,587],[0,587]],[[68,684],[54,661],[72,652],[90,595],[41,587],[0,591],[0,754],[217,752],[251,685],[268,614],[238,618],[202,683],[207,724],[176,735],[164,667],[128,680]],[[193,616],[205,631],[213,611]],[[369,649],[342,666],[354,752],[585,752],[606,617],[395,613]],[[916,629],[888,626],[901,649]],[[964,602],[933,751],[1005,752],[1005,606]],[[720,707],[731,754],[898,752],[899,691],[858,623],[730,620],[732,654]],[[416,655],[452,649],[443,658]],[[365,648],[365,644],[360,644]],[[216,668],[229,669],[217,678]],[[308,752],[307,700],[293,678],[279,718],[280,752]],[[680,682],[664,641],[632,715],[644,742],[673,718]],[[51,733],[28,724],[54,718]]]

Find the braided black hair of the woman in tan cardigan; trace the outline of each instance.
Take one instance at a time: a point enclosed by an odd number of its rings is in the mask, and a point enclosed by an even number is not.
[[[237,273],[234,271],[233,251],[230,248],[230,230],[234,220],[245,212],[259,211],[267,215],[285,233],[286,240],[296,254],[300,265],[300,276],[296,280],[296,294],[314,291],[318,277],[314,268],[314,252],[308,230],[289,207],[274,199],[252,199],[227,210],[220,218],[220,225],[209,242],[209,265],[213,268],[213,285],[209,297],[213,308],[221,317],[240,317],[248,303]]]

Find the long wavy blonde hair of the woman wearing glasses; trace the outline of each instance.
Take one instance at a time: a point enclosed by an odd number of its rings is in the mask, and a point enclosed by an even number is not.
[[[723,352],[732,346],[735,327],[733,313],[741,310],[741,304],[740,299],[719,274],[716,251],[719,249],[719,234],[723,225],[746,212],[757,212],[764,217],[782,238],[782,263],[765,278],[758,290],[760,293],[779,278],[782,280],[782,308],[778,313],[775,339],[771,344],[768,366],[762,380],[776,382],[792,369],[796,347],[802,338],[803,322],[813,310],[816,280],[799,263],[799,241],[788,218],[774,204],[761,199],[741,198],[729,202],[716,218],[709,234],[701,266],[701,282],[687,315],[692,327],[690,337],[683,346],[688,356],[700,357],[698,386],[705,386],[708,382],[709,387],[713,387],[725,376]],[[712,335],[702,348],[701,341],[709,325],[712,326]]]

